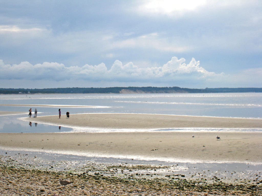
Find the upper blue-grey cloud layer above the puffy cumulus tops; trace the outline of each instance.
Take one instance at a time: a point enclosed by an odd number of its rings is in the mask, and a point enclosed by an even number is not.
[[[59,1],[30,6],[8,2],[0,8],[0,59],[8,63],[69,66],[88,61],[104,62],[108,68],[112,59],[163,64],[167,57],[179,55],[195,56],[203,63],[224,59],[224,65],[219,61],[212,65],[221,72],[232,69],[233,56],[236,64],[244,58],[261,59],[258,1],[87,1],[73,7]],[[241,68],[248,66],[243,63]]]

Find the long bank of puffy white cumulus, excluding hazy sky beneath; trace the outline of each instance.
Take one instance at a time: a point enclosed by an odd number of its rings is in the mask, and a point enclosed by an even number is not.
[[[116,60],[110,69],[104,63],[99,65],[84,65],[66,67],[57,62],[44,62],[32,65],[29,62],[8,65],[0,60],[0,79],[48,79],[48,80],[86,80],[86,81],[177,81],[177,80],[207,80],[223,75],[209,72],[200,66],[194,58],[185,63],[185,59],[172,57],[163,66],[139,68],[132,62],[124,64]]]

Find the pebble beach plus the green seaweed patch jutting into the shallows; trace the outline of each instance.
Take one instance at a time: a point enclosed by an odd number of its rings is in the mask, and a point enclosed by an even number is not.
[[[24,156],[29,157],[29,156]],[[23,164],[22,156],[0,155],[0,195],[262,195],[261,174],[256,180],[224,181],[212,178],[188,178],[184,175],[156,175],[170,166],[104,165],[53,170],[49,165]],[[35,158],[35,157],[33,157]],[[35,158],[37,159],[37,158]],[[50,163],[53,161],[50,161]],[[150,173],[150,171],[152,171]],[[61,186],[58,179],[71,184]]]

